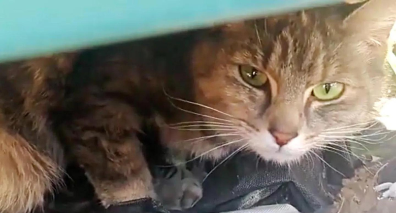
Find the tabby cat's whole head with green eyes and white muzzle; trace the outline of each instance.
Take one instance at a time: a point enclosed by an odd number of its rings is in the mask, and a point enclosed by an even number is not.
[[[395,19],[372,0],[225,25],[194,50],[199,113],[223,143],[298,160],[373,119]]]

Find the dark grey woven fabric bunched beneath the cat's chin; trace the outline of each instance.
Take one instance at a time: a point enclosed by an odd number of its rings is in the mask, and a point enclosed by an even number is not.
[[[320,155],[331,166],[313,155],[291,167],[238,154],[216,168],[203,183],[203,198],[184,212],[226,212],[275,203],[291,204],[303,213],[325,208],[341,189],[343,176],[353,176],[355,159],[340,154]]]

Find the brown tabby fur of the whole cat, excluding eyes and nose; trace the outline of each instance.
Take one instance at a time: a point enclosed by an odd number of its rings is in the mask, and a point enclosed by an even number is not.
[[[396,2],[372,0],[350,16],[341,11],[307,10],[0,66],[0,211],[42,203],[61,173],[59,141],[107,206],[155,197],[137,137],[142,125],[157,126],[161,142],[182,153],[218,159],[245,149],[284,163],[320,148],[326,130],[372,120]],[[270,83],[250,87],[238,74],[241,64]],[[316,101],[312,86],[327,81],[345,83],[343,96]],[[186,121],[179,125],[207,130],[171,125]],[[280,148],[270,127],[298,137]]]

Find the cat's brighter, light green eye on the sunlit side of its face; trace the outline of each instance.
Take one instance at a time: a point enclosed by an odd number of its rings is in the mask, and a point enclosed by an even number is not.
[[[344,92],[344,84],[340,82],[321,83],[312,91],[312,95],[320,101],[331,101],[339,98]]]

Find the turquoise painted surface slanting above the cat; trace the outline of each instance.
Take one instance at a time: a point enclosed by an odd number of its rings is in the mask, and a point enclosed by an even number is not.
[[[342,0],[0,0],[0,60],[73,50]]]

